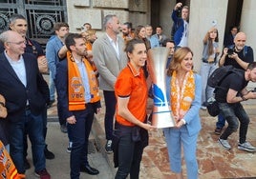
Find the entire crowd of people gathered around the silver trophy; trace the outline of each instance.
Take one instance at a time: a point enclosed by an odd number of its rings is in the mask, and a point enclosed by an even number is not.
[[[118,168],[115,178],[125,179],[129,174],[130,178],[139,178],[148,130],[156,129],[147,123],[147,98],[152,92],[147,58],[148,50],[158,47],[169,50],[164,64],[165,92],[175,127],[165,128],[163,132],[170,169],[176,177],[183,178],[182,151],[187,178],[198,178],[196,151],[202,129],[199,113],[213,96],[221,109],[214,130],[220,135],[221,147],[231,149],[228,136],[240,128],[238,149],[256,150],[246,141],[249,117],[241,104],[256,98],[256,92],[246,89],[249,81],[256,82],[256,64],[253,50],[245,46],[245,33],[232,27],[224,37],[222,51],[217,27],[207,30],[203,37],[201,70],[197,73],[193,69],[193,51],[188,48],[189,8],[177,3],[171,18],[170,38],[162,33],[161,26],[156,27],[155,34],[151,25],[133,29],[131,22],[121,24],[115,14],[104,17],[104,33],[98,38],[90,23],[85,23],[80,33],[71,33],[67,23],[57,22],[53,27],[55,34],[43,50],[26,36],[26,18],[20,14],[11,16],[10,30],[0,34],[0,117],[6,118],[0,120],[0,140],[10,152],[20,178],[31,168],[26,159],[27,136],[32,143],[35,174],[51,178],[45,162],[54,158],[46,145],[47,109],[55,100],[60,130],[69,138],[70,177],[78,179],[80,172],[99,173],[88,162],[89,134],[94,115],[101,109],[99,89],[106,107],[105,151],[114,152]],[[210,88],[207,80],[211,73],[228,65],[240,73],[224,78],[223,88]],[[50,72],[49,84],[43,77],[45,66]]]

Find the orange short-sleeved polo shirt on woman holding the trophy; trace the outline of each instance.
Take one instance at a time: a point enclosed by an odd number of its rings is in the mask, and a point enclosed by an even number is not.
[[[128,63],[128,67],[121,70],[117,77],[115,94],[117,97],[130,97],[128,109],[139,121],[144,122],[148,91],[142,68],[138,72]],[[135,126],[118,114],[117,122],[123,126]]]

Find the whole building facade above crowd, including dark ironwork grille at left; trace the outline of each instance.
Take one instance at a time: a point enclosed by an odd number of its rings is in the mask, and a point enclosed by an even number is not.
[[[177,2],[190,8],[188,44],[194,51],[195,70],[201,66],[203,36],[213,22],[219,30],[220,49],[224,32],[237,25],[247,35],[246,45],[256,51],[255,0],[5,0],[0,2],[0,32],[8,30],[11,14],[20,13],[28,20],[28,36],[41,44],[53,35],[53,24],[59,21],[67,21],[72,32],[79,32],[89,22],[99,36],[103,17],[112,13],[121,23],[132,22],[134,28],[160,25],[170,36],[170,15]]]

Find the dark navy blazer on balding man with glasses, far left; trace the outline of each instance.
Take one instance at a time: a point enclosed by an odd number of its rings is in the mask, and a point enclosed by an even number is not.
[[[4,53],[0,54],[0,93],[6,98],[7,120],[16,122],[29,101],[32,114],[39,114],[50,101],[46,81],[40,74],[34,55],[24,53],[27,87],[19,80]]]

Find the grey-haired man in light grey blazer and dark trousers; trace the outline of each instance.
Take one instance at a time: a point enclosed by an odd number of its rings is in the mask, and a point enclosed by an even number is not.
[[[120,22],[116,15],[106,15],[103,20],[106,31],[93,45],[94,61],[99,73],[99,89],[103,90],[106,113],[106,152],[112,153],[113,119],[116,109],[114,85],[120,70],[126,67],[128,59],[124,52],[124,41],[117,34],[120,31]]]

